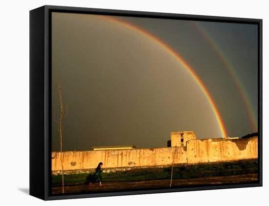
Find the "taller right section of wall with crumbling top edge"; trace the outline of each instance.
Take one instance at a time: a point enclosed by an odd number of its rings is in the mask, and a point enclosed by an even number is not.
[[[197,139],[187,142],[188,163],[258,158],[258,137]]]

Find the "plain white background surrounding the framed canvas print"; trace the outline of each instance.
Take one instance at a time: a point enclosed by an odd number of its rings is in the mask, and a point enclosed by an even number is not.
[[[45,4],[263,19],[264,186],[48,202],[29,196],[29,10]],[[1,1],[0,205],[267,205],[269,196],[268,22],[267,0]]]

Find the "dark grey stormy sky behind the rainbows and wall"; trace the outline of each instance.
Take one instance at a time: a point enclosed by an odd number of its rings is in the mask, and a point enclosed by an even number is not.
[[[257,118],[257,26],[117,18],[156,36],[192,67],[214,100],[228,136],[255,131],[234,77],[210,42],[239,77]],[[69,108],[63,120],[64,151],[109,145],[165,147],[170,132],[180,130],[194,130],[198,138],[221,137],[193,77],[159,45],[120,24],[94,15],[53,13],[56,116],[58,75]],[[59,139],[52,121],[52,151],[59,150]]]

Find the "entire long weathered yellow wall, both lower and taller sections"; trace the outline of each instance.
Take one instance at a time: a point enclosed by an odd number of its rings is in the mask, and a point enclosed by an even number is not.
[[[175,164],[230,161],[258,157],[258,138],[246,139],[199,139],[186,142],[187,147],[178,147]],[[143,167],[169,165],[173,162],[175,147],[133,150],[52,152],[52,171],[96,168]]]

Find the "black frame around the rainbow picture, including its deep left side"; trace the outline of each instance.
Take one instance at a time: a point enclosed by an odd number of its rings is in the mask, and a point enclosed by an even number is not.
[[[51,195],[51,12],[86,13],[180,20],[255,24],[258,26],[259,182],[186,188]],[[45,5],[30,11],[30,195],[43,200],[150,194],[262,186],[262,20]]]

